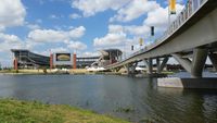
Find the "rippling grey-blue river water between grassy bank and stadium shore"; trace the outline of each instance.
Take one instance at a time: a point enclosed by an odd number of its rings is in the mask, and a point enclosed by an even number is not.
[[[131,122],[217,123],[217,90],[117,75],[0,75],[0,97],[71,104]]]

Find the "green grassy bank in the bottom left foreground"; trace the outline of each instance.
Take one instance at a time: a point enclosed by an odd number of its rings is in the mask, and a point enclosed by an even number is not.
[[[64,104],[0,99],[0,123],[128,123]]]

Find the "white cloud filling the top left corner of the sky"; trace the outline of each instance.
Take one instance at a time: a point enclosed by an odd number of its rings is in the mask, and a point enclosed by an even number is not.
[[[21,0],[1,0],[0,28],[20,26],[24,24],[26,10]]]

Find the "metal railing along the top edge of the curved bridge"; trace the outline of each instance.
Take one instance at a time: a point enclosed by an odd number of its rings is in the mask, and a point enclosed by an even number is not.
[[[168,28],[163,33],[163,35],[158,39],[156,39],[154,44],[145,46],[141,50],[133,52],[132,54],[128,56],[126,59],[123,59],[122,61],[125,61],[140,53],[146,52],[150,49],[162,44],[164,40],[170,37],[175,32],[177,32],[189,19],[191,19],[191,16],[194,13],[196,13],[201,9],[201,7],[203,7],[207,1],[208,0],[188,0],[183,10],[177,15],[176,20],[170,23]]]

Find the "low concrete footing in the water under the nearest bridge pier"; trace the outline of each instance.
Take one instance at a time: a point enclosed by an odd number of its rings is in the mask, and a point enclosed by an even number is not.
[[[217,89],[217,78],[157,78],[158,87]]]

